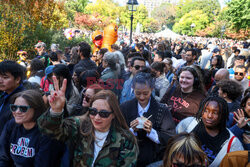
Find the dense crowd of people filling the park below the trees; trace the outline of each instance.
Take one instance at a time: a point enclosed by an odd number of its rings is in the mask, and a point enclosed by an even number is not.
[[[138,35],[95,53],[59,47],[38,42],[30,61],[20,51],[0,62],[1,167],[248,163],[248,42]]]

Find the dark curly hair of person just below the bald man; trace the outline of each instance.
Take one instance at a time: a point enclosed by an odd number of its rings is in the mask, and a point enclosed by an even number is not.
[[[217,86],[223,93],[227,93],[227,97],[232,101],[235,101],[243,93],[242,86],[230,79],[221,80]]]

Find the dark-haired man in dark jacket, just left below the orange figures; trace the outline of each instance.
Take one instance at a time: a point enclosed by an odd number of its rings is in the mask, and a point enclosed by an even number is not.
[[[84,70],[97,70],[95,62],[93,62],[90,59],[90,53],[91,53],[90,45],[86,42],[81,42],[79,46],[80,46],[79,54],[81,60],[79,61],[79,63],[75,65],[74,69],[80,66],[84,68]]]

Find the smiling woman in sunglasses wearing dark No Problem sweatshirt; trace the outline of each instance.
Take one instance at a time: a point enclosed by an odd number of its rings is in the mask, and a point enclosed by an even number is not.
[[[15,94],[12,101],[14,119],[6,123],[0,137],[0,166],[60,166],[64,145],[42,135],[36,124],[46,110],[42,95],[27,90]]]

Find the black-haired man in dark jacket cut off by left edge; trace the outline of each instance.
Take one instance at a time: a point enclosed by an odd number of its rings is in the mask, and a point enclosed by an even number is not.
[[[15,61],[6,60],[0,63],[0,134],[5,123],[12,118],[9,105],[12,95],[21,92],[24,88],[22,80],[24,67]]]

